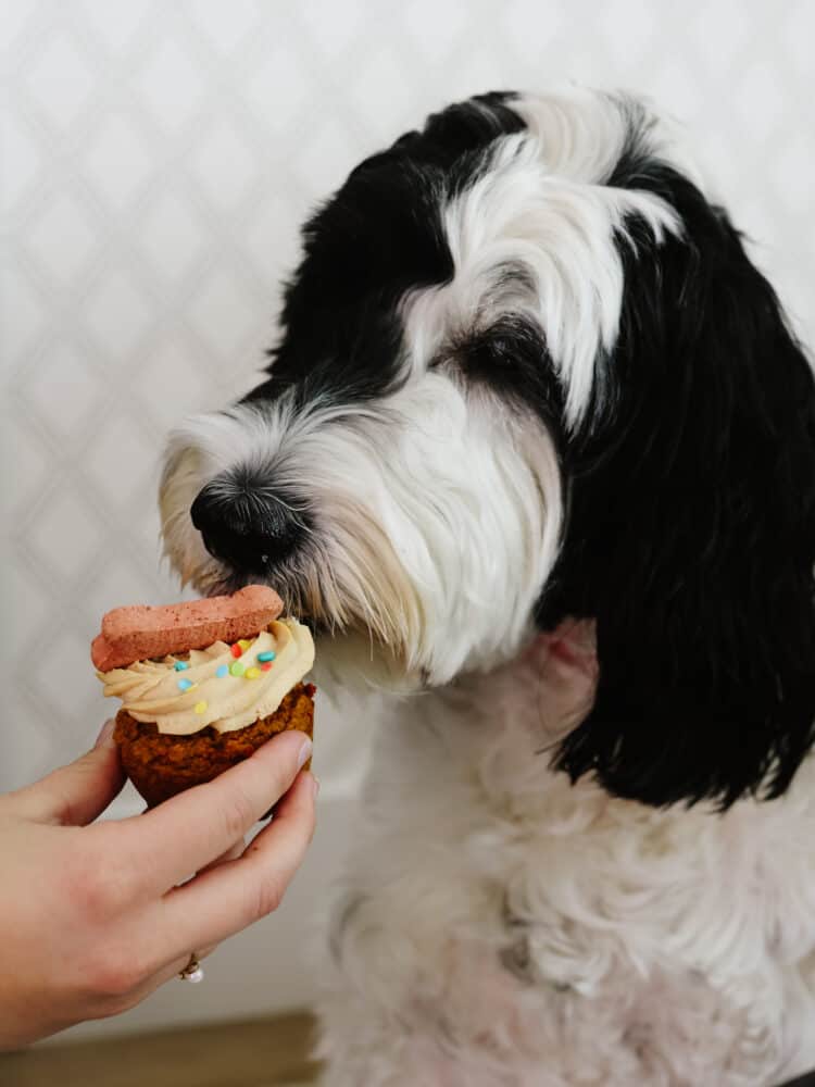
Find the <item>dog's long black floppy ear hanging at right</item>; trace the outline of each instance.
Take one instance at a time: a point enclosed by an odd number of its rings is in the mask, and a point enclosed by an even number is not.
[[[615,403],[572,443],[539,619],[594,617],[599,683],[556,765],[651,804],[775,797],[815,739],[815,391],[720,209],[640,163],[685,234],[629,221]]]

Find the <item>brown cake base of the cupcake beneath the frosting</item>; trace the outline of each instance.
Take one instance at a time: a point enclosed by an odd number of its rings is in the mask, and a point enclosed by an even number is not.
[[[275,713],[246,728],[220,733],[209,726],[189,736],[160,733],[154,723],[141,723],[126,710],[120,710],[113,737],[125,773],[148,807],[154,808],[193,785],[211,782],[229,766],[248,759],[277,733],[298,729],[313,736],[313,695],[311,684],[298,684]]]

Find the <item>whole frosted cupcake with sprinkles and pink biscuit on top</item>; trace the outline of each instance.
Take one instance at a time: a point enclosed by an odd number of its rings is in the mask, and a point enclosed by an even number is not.
[[[164,608],[120,608],[91,658],[122,700],[114,738],[149,807],[216,777],[286,729],[313,734],[308,627],[266,586]]]

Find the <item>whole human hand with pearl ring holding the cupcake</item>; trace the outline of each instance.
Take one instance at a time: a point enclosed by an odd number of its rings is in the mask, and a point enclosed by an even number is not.
[[[275,910],[313,836],[297,732],[143,815],[88,825],[124,780],[112,724],[82,759],[0,797],[0,1050],[139,1003],[191,952]]]

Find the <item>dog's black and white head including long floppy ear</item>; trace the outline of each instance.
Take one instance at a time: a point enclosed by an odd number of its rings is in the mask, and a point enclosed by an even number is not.
[[[167,552],[269,580],[356,665],[443,684],[595,622],[556,764],[669,803],[775,796],[815,722],[815,396],[670,130],[488,95],[308,223],[267,378],[172,438]]]

